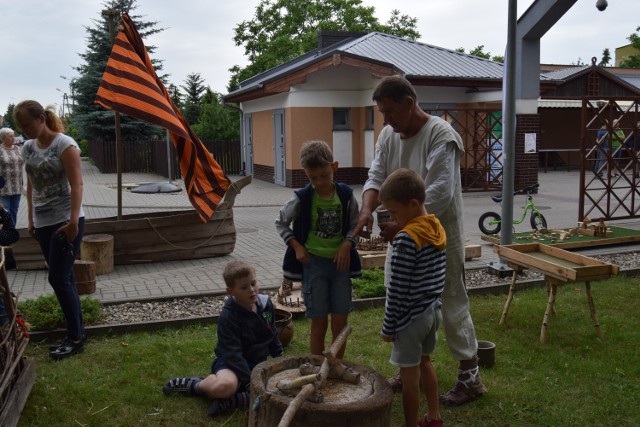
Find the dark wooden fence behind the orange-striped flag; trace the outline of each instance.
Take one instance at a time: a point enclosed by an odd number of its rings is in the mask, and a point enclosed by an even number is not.
[[[203,141],[227,175],[239,175],[242,159],[240,141]],[[171,177],[168,173],[167,141],[126,141],[122,144],[122,172],[150,172],[169,179],[181,179],[178,157],[170,144]],[[102,173],[116,173],[115,141],[89,141],[89,157]]]

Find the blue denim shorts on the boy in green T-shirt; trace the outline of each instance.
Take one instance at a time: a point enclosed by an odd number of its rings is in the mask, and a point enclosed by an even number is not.
[[[302,295],[306,316],[325,317],[351,312],[349,271],[338,271],[332,259],[310,254],[302,274]]]

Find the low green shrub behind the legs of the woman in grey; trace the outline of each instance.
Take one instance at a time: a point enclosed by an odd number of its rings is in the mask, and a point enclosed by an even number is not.
[[[86,325],[94,325],[102,317],[102,303],[94,298],[80,298],[82,318]],[[55,295],[42,295],[18,303],[18,312],[36,331],[63,328],[64,315]]]

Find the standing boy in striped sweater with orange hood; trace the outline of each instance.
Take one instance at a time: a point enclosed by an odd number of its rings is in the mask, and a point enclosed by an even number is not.
[[[402,227],[392,242],[381,334],[393,343],[390,362],[400,368],[405,426],[442,426],[438,379],[429,355],[436,347],[444,288],[445,231],[433,214],[427,214],[424,180],[412,170],[398,169],[389,175],[378,198]],[[418,419],[420,386],[428,411]]]

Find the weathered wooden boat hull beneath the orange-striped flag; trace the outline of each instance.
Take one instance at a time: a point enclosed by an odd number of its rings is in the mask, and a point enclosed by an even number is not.
[[[38,242],[26,228],[18,230],[13,245],[18,269],[44,268]],[[114,238],[115,265],[175,261],[228,255],[236,244],[233,209],[218,209],[204,223],[195,210],[154,212],[89,219],[84,235],[109,234]]]

